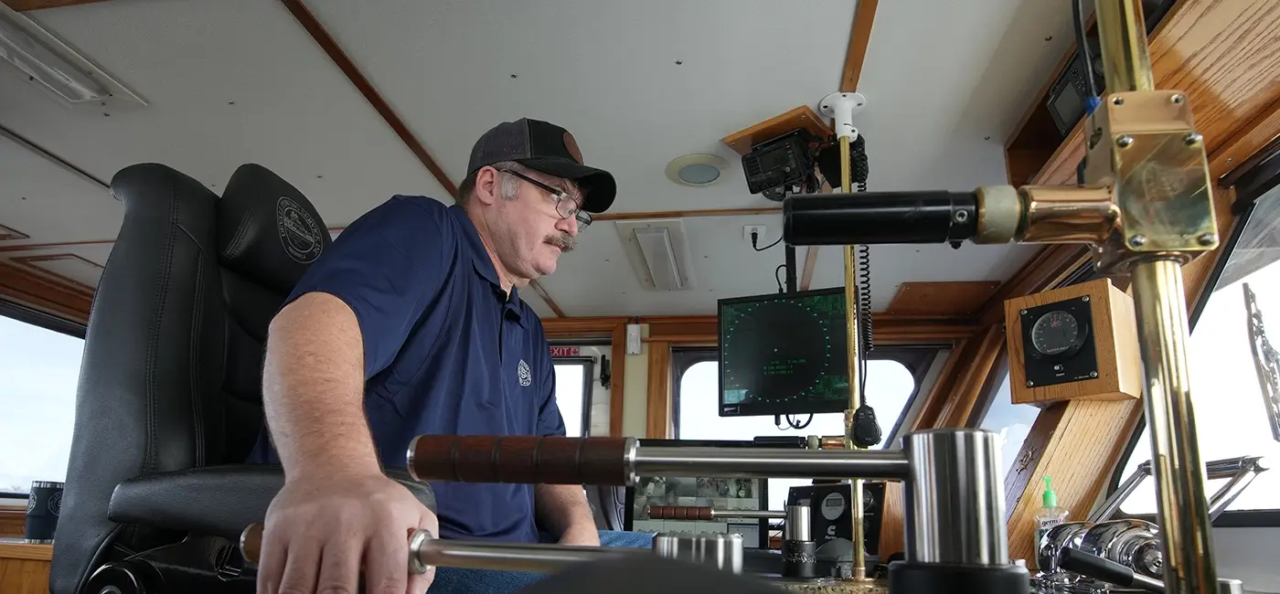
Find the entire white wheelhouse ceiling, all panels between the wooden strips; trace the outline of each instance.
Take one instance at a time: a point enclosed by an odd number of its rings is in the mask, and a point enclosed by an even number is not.
[[[740,157],[719,140],[817,108],[837,88],[856,0],[306,4],[454,182],[485,129],[531,116],[567,127],[588,163],[614,173],[614,211],[663,211],[776,206],[748,193]],[[72,110],[0,70],[0,123],[96,177],[159,161],[218,191],[239,164],[260,163],[330,227],[394,193],[448,201],[279,1],[110,0],[27,14],[148,102]],[[879,3],[858,88],[868,104],[855,120],[869,189],[1004,182],[1004,141],[1070,33],[1057,0]],[[690,152],[727,159],[723,179],[668,181],[667,163]],[[0,224],[26,242],[104,239],[119,228],[105,191],[8,141],[0,175]],[[755,252],[742,241],[741,227],[760,223],[768,245],[780,215],[685,219],[694,291],[643,289],[612,223],[584,233],[541,284],[571,316],[713,314],[717,298],[777,289],[782,247]],[[1034,250],[876,246],[873,302],[883,309],[906,280],[1007,279]],[[841,279],[838,250],[822,248],[813,287]],[[552,316],[534,291],[524,296]]]

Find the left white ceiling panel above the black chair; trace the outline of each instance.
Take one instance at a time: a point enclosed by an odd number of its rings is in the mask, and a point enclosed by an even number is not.
[[[280,3],[111,0],[26,14],[150,104],[68,110],[0,72],[0,123],[101,179],[157,161],[216,188],[260,163],[330,225],[394,193],[445,197]],[[59,239],[116,228],[108,218]]]

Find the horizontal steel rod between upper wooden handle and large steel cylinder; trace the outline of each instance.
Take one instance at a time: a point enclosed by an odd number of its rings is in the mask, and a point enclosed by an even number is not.
[[[663,448],[635,451],[635,476],[905,479],[906,456],[882,449]]]

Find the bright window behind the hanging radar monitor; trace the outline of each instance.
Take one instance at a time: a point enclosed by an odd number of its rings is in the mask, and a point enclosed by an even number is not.
[[[893,355],[888,349],[876,349],[877,358],[867,361],[867,401],[876,410],[883,439],[876,448],[890,446],[892,431],[901,424],[902,412],[910,408],[919,390],[919,378],[924,375],[937,351],[901,349]],[[845,415],[831,412],[814,415],[804,429],[780,429],[772,416],[719,416],[719,361],[716,351],[701,351],[692,357],[673,353],[676,437],[680,439],[753,439],[759,435],[844,435]],[[899,360],[908,361],[911,367]],[[684,358],[684,361],[681,361]],[[809,415],[797,420],[804,422]],[[809,479],[769,479],[769,510],[786,507],[787,490],[795,485],[810,484]]]

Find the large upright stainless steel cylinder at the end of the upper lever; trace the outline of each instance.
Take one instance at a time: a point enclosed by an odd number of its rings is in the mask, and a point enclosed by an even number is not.
[[[1000,438],[982,429],[908,434],[906,561],[1009,565]]]

